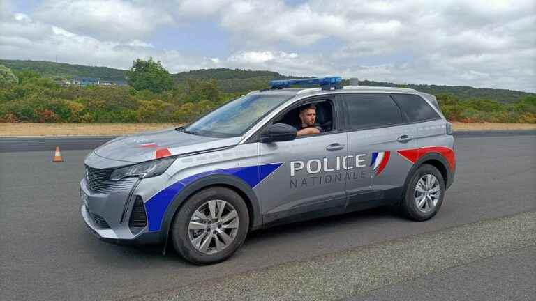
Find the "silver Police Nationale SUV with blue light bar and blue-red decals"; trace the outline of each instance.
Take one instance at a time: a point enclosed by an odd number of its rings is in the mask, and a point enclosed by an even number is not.
[[[290,88],[301,85],[318,87]],[[91,152],[82,217],[103,240],[171,243],[216,263],[274,224],[385,205],[430,219],[454,180],[453,148],[433,95],[341,77],[272,81],[184,127]]]

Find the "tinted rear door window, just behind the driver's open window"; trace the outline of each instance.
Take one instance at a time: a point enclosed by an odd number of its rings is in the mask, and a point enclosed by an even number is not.
[[[345,95],[350,129],[376,128],[403,122],[402,113],[389,95]]]

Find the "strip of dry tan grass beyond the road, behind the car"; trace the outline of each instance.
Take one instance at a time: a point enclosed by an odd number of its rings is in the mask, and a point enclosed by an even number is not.
[[[172,123],[0,123],[0,137],[119,135],[175,126]],[[536,124],[454,123],[454,130],[536,130]]]

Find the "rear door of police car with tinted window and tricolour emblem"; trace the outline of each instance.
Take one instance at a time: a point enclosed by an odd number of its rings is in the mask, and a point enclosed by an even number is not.
[[[397,151],[414,148],[408,125],[388,94],[344,95],[348,152],[362,161],[359,180],[346,183],[349,208],[378,206],[401,191],[410,166]]]

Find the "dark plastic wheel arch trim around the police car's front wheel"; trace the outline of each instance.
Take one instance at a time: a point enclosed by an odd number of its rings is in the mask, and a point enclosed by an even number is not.
[[[161,236],[164,245],[167,245],[168,243],[173,218],[184,204],[184,201],[200,190],[215,186],[226,187],[230,190],[233,190],[234,192],[237,192],[242,199],[244,199],[244,202],[246,202],[246,206],[248,207],[250,229],[258,229],[260,226],[262,226],[260,204],[251,186],[244,182],[244,180],[241,180],[235,176],[215,174],[195,180],[195,182],[187,185],[176,196],[174,196],[170,206],[168,206],[168,208],[165,210],[162,223]]]

